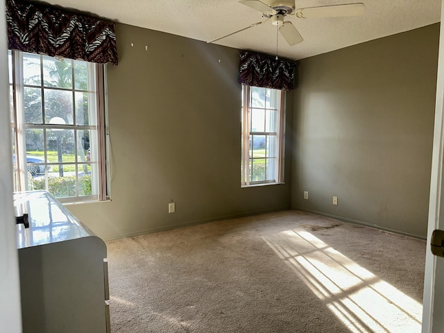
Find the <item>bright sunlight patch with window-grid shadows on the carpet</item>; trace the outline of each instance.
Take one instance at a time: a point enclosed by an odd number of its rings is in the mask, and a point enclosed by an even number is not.
[[[422,305],[310,232],[262,237],[350,332],[420,332]]]

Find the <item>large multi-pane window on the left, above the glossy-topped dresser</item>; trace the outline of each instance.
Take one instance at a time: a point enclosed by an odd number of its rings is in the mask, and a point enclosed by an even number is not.
[[[9,51],[15,191],[106,198],[103,65]]]

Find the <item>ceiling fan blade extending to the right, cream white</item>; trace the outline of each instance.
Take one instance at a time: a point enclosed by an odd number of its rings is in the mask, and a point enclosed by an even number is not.
[[[364,9],[364,3],[348,3],[345,5],[300,8],[295,11],[294,16],[300,19],[359,16],[364,14]]]

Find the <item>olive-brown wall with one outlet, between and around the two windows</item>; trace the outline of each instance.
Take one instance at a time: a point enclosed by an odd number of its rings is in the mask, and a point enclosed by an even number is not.
[[[69,210],[110,239],[288,209],[291,135],[286,184],[240,187],[239,51],[123,24],[116,33],[119,66],[108,66],[112,200]]]

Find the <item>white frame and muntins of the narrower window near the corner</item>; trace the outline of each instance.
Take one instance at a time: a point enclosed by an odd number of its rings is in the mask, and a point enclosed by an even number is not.
[[[241,187],[250,187],[257,185],[274,185],[284,183],[284,136],[285,136],[285,92],[278,90],[278,121],[276,132],[253,132],[251,129],[251,101],[250,86],[242,85],[242,159],[241,159]],[[250,135],[265,135],[276,137],[276,168],[273,178],[262,181],[252,181],[250,175],[250,163],[253,162],[253,156],[250,157]],[[253,142],[251,142],[253,144]],[[268,158],[268,157],[265,157]]]

